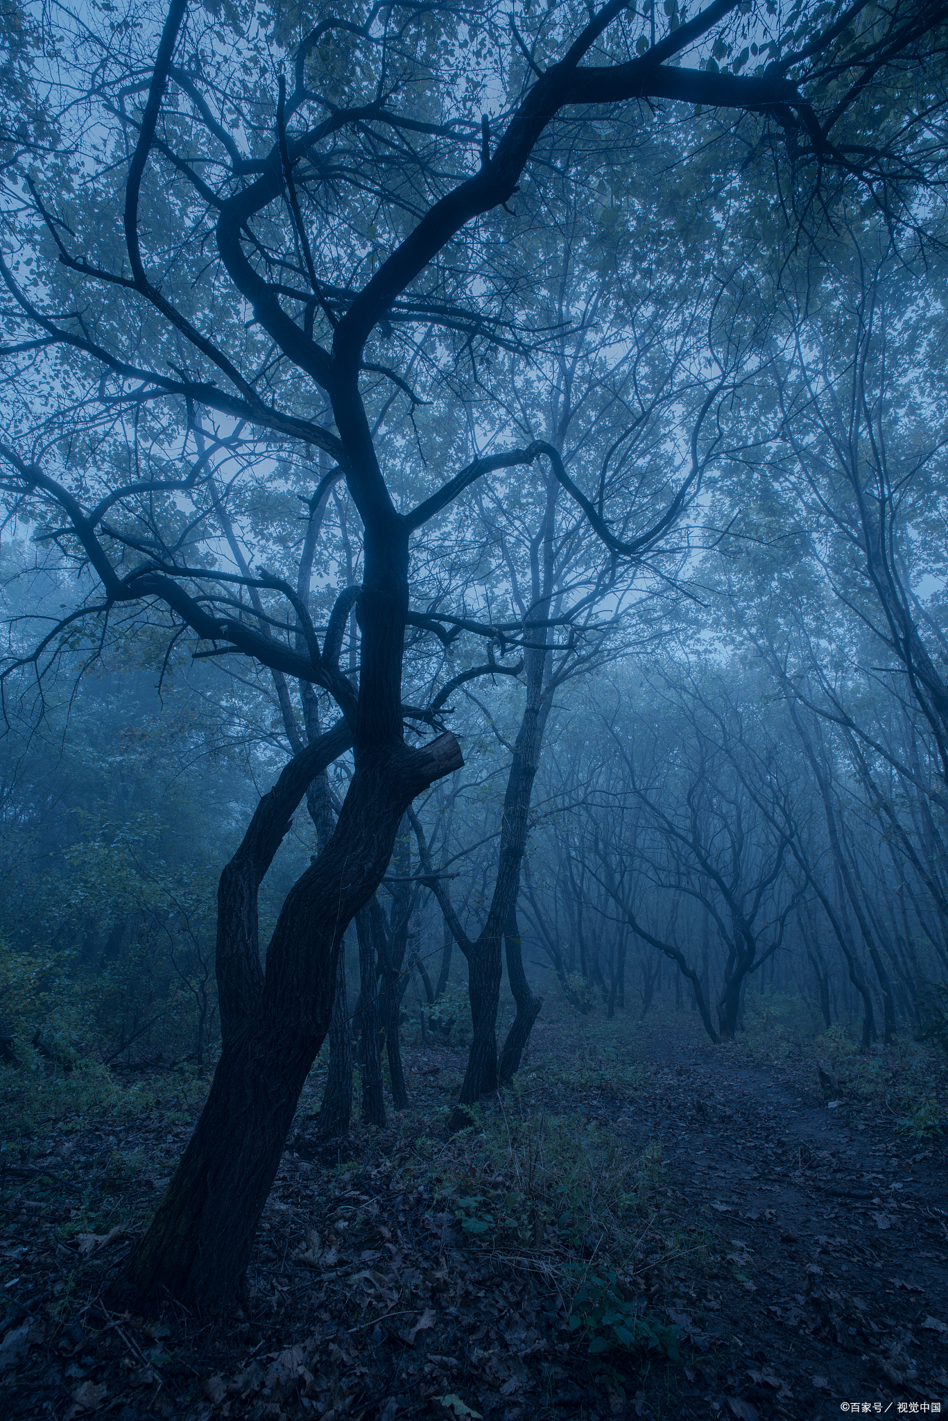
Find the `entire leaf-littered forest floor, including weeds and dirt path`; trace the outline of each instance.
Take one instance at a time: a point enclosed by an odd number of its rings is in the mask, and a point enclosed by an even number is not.
[[[553,1000],[476,1128],[448,1137],[465,1053],[429,1039],[411,1108],[328,1147],[314,1074],[243,1304],[205,1319],[108,1306],[205,1084],[0,1067],[0,1414],[948,1414],[944,1056],[826,1049],[831,1107],[786,1033]]]

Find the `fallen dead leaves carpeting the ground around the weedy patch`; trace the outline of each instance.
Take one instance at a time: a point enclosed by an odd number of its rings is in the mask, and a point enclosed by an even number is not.
[[[428,1077],[416,1073],[416,1079]],[[695,1081],[689,1077],[675,1086],[677,1080],[677,1073],[662,1077],[662,1090],[652,1098],[655,1110],[638,1133],[628,1117],[623,1117],[624,1124],[620,1120],[617,1133],[628,1138],[630,1148],[648,1138],[674,1140],[688,1121],[691,1097],[682,1096],[682,1088],[694,1093]],[[722,1086],[705,1096],[711,1107],[688,1125],[692,1141],[698,1130],[708,1145],[699,1198],[708,1211],[704,1223],[694,1206],[685,1205],[689,1212],[679,1208],[681,1171],[674,1192],[668,1174],[655,1199],[667,1212],[652,1216],[638,1256],[623,1272],[642,1307],[667,1316],[681,1333],[684,1366],[679,1371],[672,1367],[669,1377],[671,1385],[681,1388],[682,1414],[688,1414],[685,1395],[695,1398],[688,1390],[694,1387],[705,1403],[699,1414],[715,1403],[718,1417],[738,1421],[796,1417],[813,1407],[813,1388],[817,1400],[826,1395],[820,1378],[836,1387],[840,1368],[858,1368],[860,1356],[870,1358],[864,1366],[880,1387],[921,1395],[912,1391],[920,1385],[912,1358],[925,1353],[944,1357],[948,1324],[939,1317],[948,1314],[937,1290],[927,1286],[922,1292],[912,1280],[922,1275],[915,1273],[910,1249],[917,1243],[917,1222],[944,1246],[941,1233],[948,1239],[948,1231],[942,1214],[912,1215],[910,1187],[893,1192],[888,1175],[871,1172],[878,1162],[868,1157],[863,1169],[870,1172],[853,1174],[839,1150],[820,1148],[826,1141],[817,1135],[790,1150],[775,1133],[773,1111],[767,1114],[750,1097],[742,1103],[735,1094],[728,1106]],[[560,1098],[556,1108],[569,1111],[573,1104],[573,1097]],[[586,1087],[583,1111],[601,1125],[614,1120],[605,1097],[600,1100]],[[839,1127],[836,1117],[819,1115],[827,1128],[830,1121]],[[547,1215],[546,1228],[524,1235],[516,1246],[465,1229],[463,1218],[476,1219],[490,1208],[497,1214],[493,1195],[503,1195],[509,1184],[483,1168],[479,1172],[472,1154],[463,1189],[455,1191],[458,1198],[438,1196],[443,1181],[433,1179],[431,1160],[422,1158],[412,1133],[399,1134],[398,1128],[385,1135],[357,1131],[345,1151],[323,1150],[313,1167],[300,1157],[284,1158],[247,1279],[249,1317],[240,1327],[229,1322],[215,1333],[172,1310],[162,1331],[145,1327],[141,1319],[97,1313],[94,1300],[124,1253],[117,1218],[134,1228],[142,1216],[135,1216],[135,1208],[153,1206],[149,1179],[166,1172],[186,1135],[182,1127],[172,1145],[166,1127],[151,1134],[139,1128],[135,1135],[129,1124],[121,1145],[129,1157],[141,1155],[141,1198],[126,1169],[121,1209],[114,1206],[118,1196],[109,1196],[101,1211],[80,1212],[90,1160],[98,1161],[98,1175],[108,1182],[112,1167],[107,1151],[115,1150],[109,1135],[115,1128],[99,1130],[94,1145],[87,1138],[97,1135],[94,1130],[71,1137],[68,1157],[57,1157],[55,1187],[43,1198],[45,1175],[40,1172],[14,1195],[18,1212],[10,1215],[10,1226],[17,1231],[16,1248],[7,1248],[4,1258],[23,1276],[20,1296],[31,1312],[7,1314],[11,1324],[0,1341],[0,1384],[16,1378],[24,1397],[18,1415],[40,1418],[45,1411],[60,1421],[84,1421],[97,1412],[118,1417],[128,1410],[129,1421],[152,1415],[280,1421],[304,1414],[323,1421],[333,1414],[364,1415],[365,1421],[411,1415],[524,1421],[547,1397],[563,1417],[591,1408],[594,1378],[581,1344],[564,1326],[569,1275],[556,1221]],[[435,1133],[431,1121],[425,1130]],[[735,1140],[749,1142],[753,1151],[740,1168],[736,1161],[728,1165]],[[809,1221],[800,1222],[803,1211],[787,1209],[787,1181],[804,1192],[809,1211],[841,1208],[849,1214],[846,1223],[814,1225],[827,1232],[814,1236],[806,1228]],[[752,1205],[750,1191],[769,1198]],[[476,1214],[473,1205],[462,1209],[462,1218],[458,1208],[468,1196],[480,1202]],[[846,1236],[829,1236],[833,1228]],[[688,1253],[696,1242],[694,1232],[706,1241],[718,1238],[718,1231],[746,1231],[746,1242],[718,1241],[715,1266],[726,1263],[722,1283],[715,1285],[715,1296],[704,1296],[706,1285],[689,1290],[681,1279],[688,1270],[691,1277],[706,1276],[706,1255],[698,1252],[678,1263],[672,1255],[675,1249]],[[597,1246],[596,1238],[577,1241],[581,1266]],[[857,1282],[860,1250],[871,1259],[870,1266],[883,1259],[884,1268]],[[844,1265],[849,1275],[841,1272]],[[60,1279],[72,1280],[70,1287],[80,1283],[65,1309],[64,1285],[51,1282],[57,1270]],[[54,1286],[60,1286],[58,1295]],[[900,1317],[911,1309],[914,1346],[907,1326],[885,1316],[894,1303]],[[758,1351],[735,1357],[735,1333],[756,1340]],[[806,1351],[810,1339],[822,1351]],[[785,1351],[786,1380],[777,1360]],[[594,1407],[601,1415],[650,1417],[647,1384],[637,1390],[630,1380],[625,1395],[628,1400],[604,1391]]]

